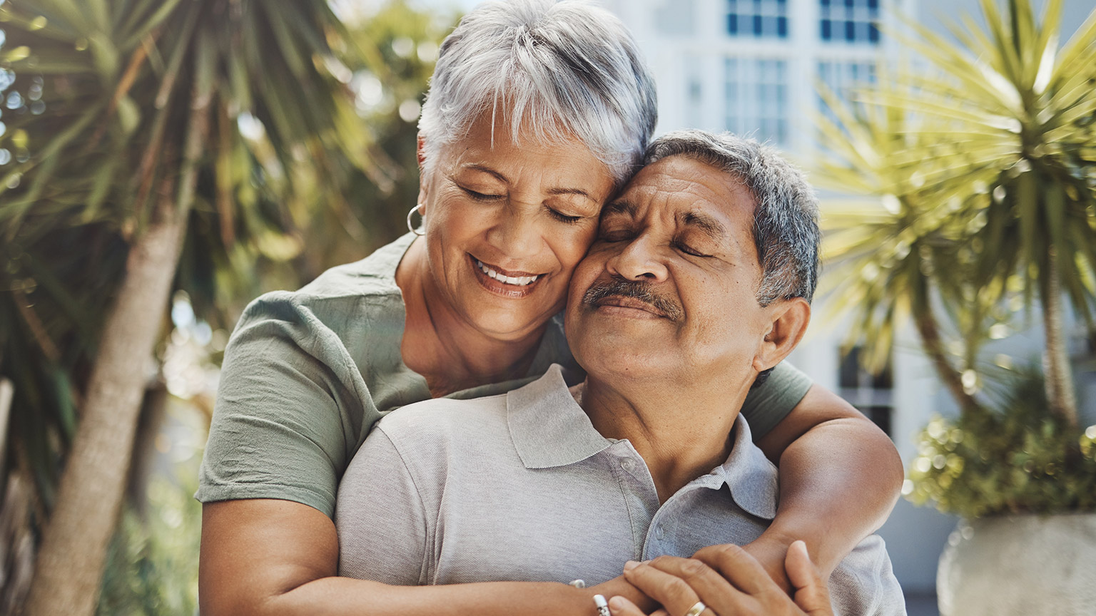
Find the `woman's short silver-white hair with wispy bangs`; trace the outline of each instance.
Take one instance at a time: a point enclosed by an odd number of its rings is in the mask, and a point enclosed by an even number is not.
[[[489,110],[507,114],[515,141],[578,138],[618,185],[658,119],[654,78],[631,34],[574,0],[484,2],[460,20],[442,43],[419,119],[426,168]]]

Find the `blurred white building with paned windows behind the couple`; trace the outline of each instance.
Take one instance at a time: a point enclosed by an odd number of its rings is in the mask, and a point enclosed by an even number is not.
[[[941,34],[961,14],[980,14],[978,0],[603,0],[636,35],[659,87],[658,134],[677,128],[732,130],[777,145],[809,169],[824,152],[813,124],[825,105],[817,84],[838,95],[877,79],[877,66],[915,62],[888,32],[916,21]],[[1037,1],[1041,5],[1042,2]],[[1093,10],[1092,0],[1066,0],[1063,38]],[[901,15],[906,15],[909,21]],[[975,20],[978,23],[978,20]],[[822,193],[823,212],[841,195]],[[814,380],[841,393],[894,440],[909,466],[916,434],[935,412],[956,406],[920,352],[912,328],[898,336],[890,365],[880,375],[859,367],[857,350],[844,345],[855,323],[827,319],[825,298],[815,301],[808,340],[792,362]],[[1038,326],[1039,318],[1031,320]],[[1074,355],[1091,350],[1075,328]],[[1038,360],[1042,332],[1036,327],[993,345],[1018,361]],[[1091,363],[1091,362],[1089,362]],[[1077,365],[1078,389],[1096,421],[1093,366]],[[955,518],[900,501],[880,532],[894,572],[914,602],[911,614],[932,614],[936,562]],[[920,598],[920,602],[917,601]]]

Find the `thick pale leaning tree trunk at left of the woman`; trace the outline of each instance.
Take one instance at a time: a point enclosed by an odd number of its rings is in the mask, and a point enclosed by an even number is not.
[[[163,184],[148,228],[130,249],[126,278],[103,328],[83,417],[38,552],[30,616],[95,612],[152,349],[186,231],[187,212],[175,206],[174,180]]]

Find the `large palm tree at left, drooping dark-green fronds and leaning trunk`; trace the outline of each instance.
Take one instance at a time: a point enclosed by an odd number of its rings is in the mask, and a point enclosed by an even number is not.
[[[386,169],[324,2],[10,0],[0,25],[0,367],[38,410],[16,457],[52,509],[26,613],[91,614],[184,246],[190,264],[276,252],[302,203]],[[50,441],[70,437],[54,494]]]

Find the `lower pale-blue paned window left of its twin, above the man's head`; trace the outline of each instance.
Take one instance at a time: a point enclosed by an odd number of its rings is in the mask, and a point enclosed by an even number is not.
[[[788,62],[770,58],[727,58],[724,75],[724,128],[786,146]]]

